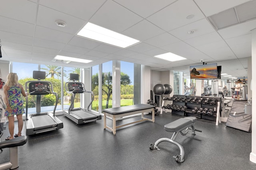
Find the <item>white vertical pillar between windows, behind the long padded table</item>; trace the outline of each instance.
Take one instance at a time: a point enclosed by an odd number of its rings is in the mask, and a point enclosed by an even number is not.
[[[121,62],[113,60],[112,64],[112,107],[120,107],[120,89],[121,89]]]

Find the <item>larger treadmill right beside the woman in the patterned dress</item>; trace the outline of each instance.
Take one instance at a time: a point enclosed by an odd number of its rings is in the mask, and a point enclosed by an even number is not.
[[[58,105],[58,94],[53,91],[50,81],[41,81],[46,78],[45,71],[33,71],[33,78],[37,81],[27,81],[25,91],[29,95],[36,95],[36,113],[28,115],[28,97],[26,97],[26,135],[38,134],[51,130],[63,128],[63,123],[55,116]],[[41,112],[41,95],[53,94],[56,97],[56,103],[53,114],[50,112]]]

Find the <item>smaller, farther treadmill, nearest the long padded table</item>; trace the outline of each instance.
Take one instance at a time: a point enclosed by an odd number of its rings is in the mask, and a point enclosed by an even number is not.
[[[101,119],[101,115],[96,111],[89,110],[92,101],[94,100],[94,94],[92,91],[86,91],[84,83],[77,82],[79,80],[79,74],[70,73],[70,80],[65,83],[67,93],[70,93],[71,102],[68,110],[64,110],[64,115],[74,121],[76,124],[82,124]],[[74,108],[74,99],[76,94],[92,93],[92,101],[89,103],[87,109]]]

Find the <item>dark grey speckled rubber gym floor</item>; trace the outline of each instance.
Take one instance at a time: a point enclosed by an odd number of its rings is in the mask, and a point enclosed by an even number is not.
[[[145,115],[150,116],[151,115]],[[155,117],[155,123],[145,121],[118,128],[116,135],[104,130],[102,120],[76,125],[64,115],[57,116],[64,128],[28,136],[28,142],[19,147],[19,170],[255,170],[250,162],[251,133],[216,126],[214,121],[197,119],[195,128],[202,130],[186,136],[178,134],[176,141],[184,147],[185,161],[177,163],[173,156],[180,154],[178,146],[162,142],[160,151],[150,150],[149,145],[172,133],[164,125],[180,119],[180,116],[163,113]],[[132,117],[119,124],[140,117]],[[111,125],[112,121],[107,120]],[[17,130],[15,122],[15,131]],[[8,123],[4,125],[1,141],[9,135]],[[22,135],[26,134],[24,127]],[[0,164],[9,161],[9,149],[0,153]]]

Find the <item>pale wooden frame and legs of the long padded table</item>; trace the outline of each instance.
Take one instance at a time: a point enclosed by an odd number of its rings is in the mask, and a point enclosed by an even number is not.
[[[144,112],[152,112],[152,119],[148,119],[148,118],[144,117]],[[113,134],[116,134],[116,128],[124,127],[126,125],[131,125],[133,123],[138,123],[138,122],[142,122],[142,121],[155,122],[155,111],[154,111],[154,108],[142,109],[142,110],[133,111],[133,112],[128,112],[127,111],[127,113],[116,114],[116,115],[112,115],[112,114],[106,113],[106,112],[103,112],[103,113],[104,113],[104,129],[107,128],[107,129],[111,130],[113,132]],[[135,114],[138,114],[138,113],[141,113],[141,119],[140,120],[116,126],[116,119],[121,118],[121,117],[125,117],[125,116],[135,115]],[[113,120],[113,127],[108,127],[106,125],[106,117],[112,118],[112,120]]]

